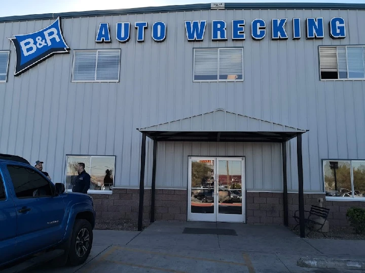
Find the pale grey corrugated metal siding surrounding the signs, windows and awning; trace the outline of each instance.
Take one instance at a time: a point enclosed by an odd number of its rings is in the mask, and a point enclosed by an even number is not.
[[[365,82],[319,81],[318,45],[365,44],[360,32],[364,15],[364,11],[346,10],[216,10],[69,18],[61,23],[71,53],[53,56],[17,78],[13,76],[15,51],[7,37],[39,30],[53,20],[0,23],[0,49],[11,50],[8,82],[0,83],[0,152],[45,161],[54,181],[63,181],[66,154],[116,155],[116,186],[137,187],[141,133],[136,128],[224,108],[310,129],[303,135],[305,191],[322,191],[321,158],[365,158]],[[346,20],[346,39],[331,39],[326,27],[324,39],[305,39],[306,17],[324,17],[326,25],[333,16]],[[268,26],[272,18],[289,18],[290,34],[294,17],[302,18],[300,40],[272,41],[269,29],[262,41],[250,38],[250,22],[255,18],[265,19]],[[231,40],[230,22],[237,18],[246,20],[243,42]],[[210,22],[204,41],[187,42],[184,20],[202,19]],[[210,40],[215,19],[227,21],[228,41]],[[133,27],[129,42],[116,41],[117,22],[144,20],[149,22],[144,43],[135,41]],[[150,26],[158,20],[167,24],[162,43],[151,38]],[[100,22],[109,22],[112,43],[95,43]],[[242,45],[243,82],[192,81],[194,47]],[[119,83],[71,82],[72,50],[111,48],[122,49]],[[146,179],[150,180],[150,141],[148,145]],[[191,149],[196,145],[203,146],[193,144]],[[295,141],[290,142],[288,153],[289,190],[296,190]],[[258,155],[252,162],[261,164],[262,154]],[[247,160],[246,166],[252,162]],[[171,175],[169,171],[166,166],[166,175]],[[182,186],[177,181],[176,187]]]

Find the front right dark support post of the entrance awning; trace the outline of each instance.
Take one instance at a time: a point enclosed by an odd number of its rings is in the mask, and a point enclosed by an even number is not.
[[[300,237],[305,238],[304,186],[303,186],[303,153],[302,134],[297,135],[298,183],[299,183],[299,226]]]

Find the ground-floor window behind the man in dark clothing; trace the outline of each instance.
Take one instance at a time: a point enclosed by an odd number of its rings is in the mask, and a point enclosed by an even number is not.
[[[78,176],[77,166],[85,164],[90,174],[90,191],[111,191],[114,186],[115,156],[67,156],[65,188],[72,190]]]

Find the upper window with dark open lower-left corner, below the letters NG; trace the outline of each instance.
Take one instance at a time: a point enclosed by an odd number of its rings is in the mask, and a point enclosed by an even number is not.
[[[321,80],[365,80],[365,46],[319,47]]]

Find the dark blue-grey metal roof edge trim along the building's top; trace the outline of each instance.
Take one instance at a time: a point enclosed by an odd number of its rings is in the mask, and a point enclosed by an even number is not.
[[[365,4],[346,4],[346,3],[225,3],[226,10],[240,9],[305,9],[305,10],[365,10]],[[94,16],[112,16],[126,14],[143,14],[143,13],[166,13],[166,12],[184,12],[196,10],[210,10],[208,4],[191,4],[191,5],[174,5],[161,7],[144,7],[132,9],[118,10],[96,10],[82,12],[64,12],[64,13],[45,13],[20,16],[0,17],[0,23],[13,21],[29,21],[29,20],[48,20],[73,17],[94,17]]]

